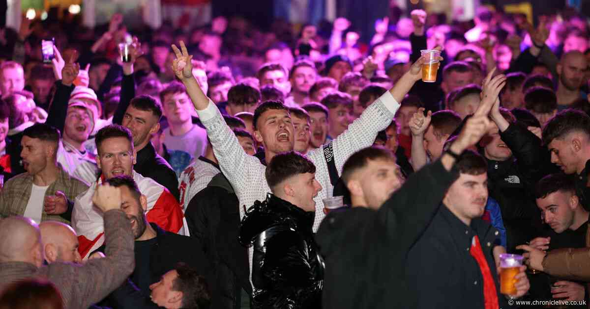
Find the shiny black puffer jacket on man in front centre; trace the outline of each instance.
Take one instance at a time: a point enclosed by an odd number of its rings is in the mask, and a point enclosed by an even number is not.
[[[268,194],[240,227],[240,242],[254,246],[254,308],[321,308],[324,263],[313,238],[314,213]]]

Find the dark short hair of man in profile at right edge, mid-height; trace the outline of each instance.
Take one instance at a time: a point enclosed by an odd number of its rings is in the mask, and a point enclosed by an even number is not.
[[[576,109],[558,112],[543,127],[543,144],[549,145],[553,139],[562,139],[571,132],[582,132],[590,137],[590,117]]]

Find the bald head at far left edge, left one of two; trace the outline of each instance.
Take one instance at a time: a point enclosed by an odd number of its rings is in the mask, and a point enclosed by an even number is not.
[[[41,267],[41,235],[34,221],[25,217],[0,220],[0,263],[25,262]]]

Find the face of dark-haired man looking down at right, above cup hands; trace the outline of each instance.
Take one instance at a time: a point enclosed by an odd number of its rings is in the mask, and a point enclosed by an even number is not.
[[[576,203],[572,202],[572,195],[572,192],[555,191],[536,200],[541,218],[558,234],[573,224]]]

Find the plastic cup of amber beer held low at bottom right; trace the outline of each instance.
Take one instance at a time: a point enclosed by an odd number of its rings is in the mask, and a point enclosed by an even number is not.
[[[500,254],[500,293],[510,298],[522,297],[530,288],[522,260],[522,255]]]

